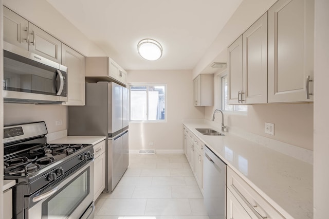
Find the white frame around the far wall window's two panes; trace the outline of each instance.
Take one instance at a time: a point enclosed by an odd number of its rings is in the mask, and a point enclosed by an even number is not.
[[[132,120],[131,119],[131,87],[146,86],[147,87],[147,117],[149,117],[149,87],[150,86],[164,86],[165,87],[165,119],[157,120]],[[168,100],[167,100],[167,84],[165,83],[130,83],[129,84],[129,122],[132,123],[166,123],[168,121]]]

